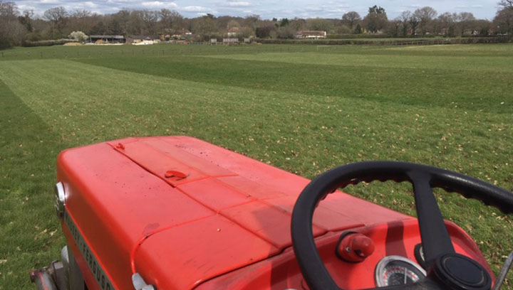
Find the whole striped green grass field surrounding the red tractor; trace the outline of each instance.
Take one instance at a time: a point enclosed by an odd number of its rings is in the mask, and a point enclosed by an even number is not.
[[[155,45],[0,55],[0,289],[58,257],[56,155],[125,136],[189,135],[313,178],[401,160],[513,189],[513,45]],[[414,214],[410,188],[349,193]],[[512,215],[437,191],[497,274]],[[505,288],[513,289],[513,275]]]

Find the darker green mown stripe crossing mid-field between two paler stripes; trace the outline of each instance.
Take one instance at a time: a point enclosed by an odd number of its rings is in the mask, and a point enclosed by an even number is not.
[[[460,107],[508,113],[513,90],[507,73],[220,60],[202,57],[83,59],[81,63],[177,80],[395,104]],[[496,84],[501,85],[497,86]]]

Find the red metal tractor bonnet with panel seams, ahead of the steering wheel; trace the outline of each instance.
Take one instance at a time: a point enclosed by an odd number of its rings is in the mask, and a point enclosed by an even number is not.
[[[95,259],[116,289],[131,289],[135,272],[157,289],[192,289],[279,254],[291,247],[291,212],[309,183],[185,136],[68,149],[58,181],[63,231],[85,256],[79,265]],[[407,218],[338,192],[318,206],[313,230],[318,237]]]

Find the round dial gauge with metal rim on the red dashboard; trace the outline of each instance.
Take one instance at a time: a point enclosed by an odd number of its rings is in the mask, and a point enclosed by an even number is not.
[[[378,287],[411,284],[425,276],[426,272],[420,265],[401,256],[384,257],[375,268]]]

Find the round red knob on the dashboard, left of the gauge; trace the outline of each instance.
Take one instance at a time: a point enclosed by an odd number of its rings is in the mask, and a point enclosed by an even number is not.
[[[374,252],[374,241],[366,235],[351,233],[338,244],[337,253],[347,262],[362,262]]]

